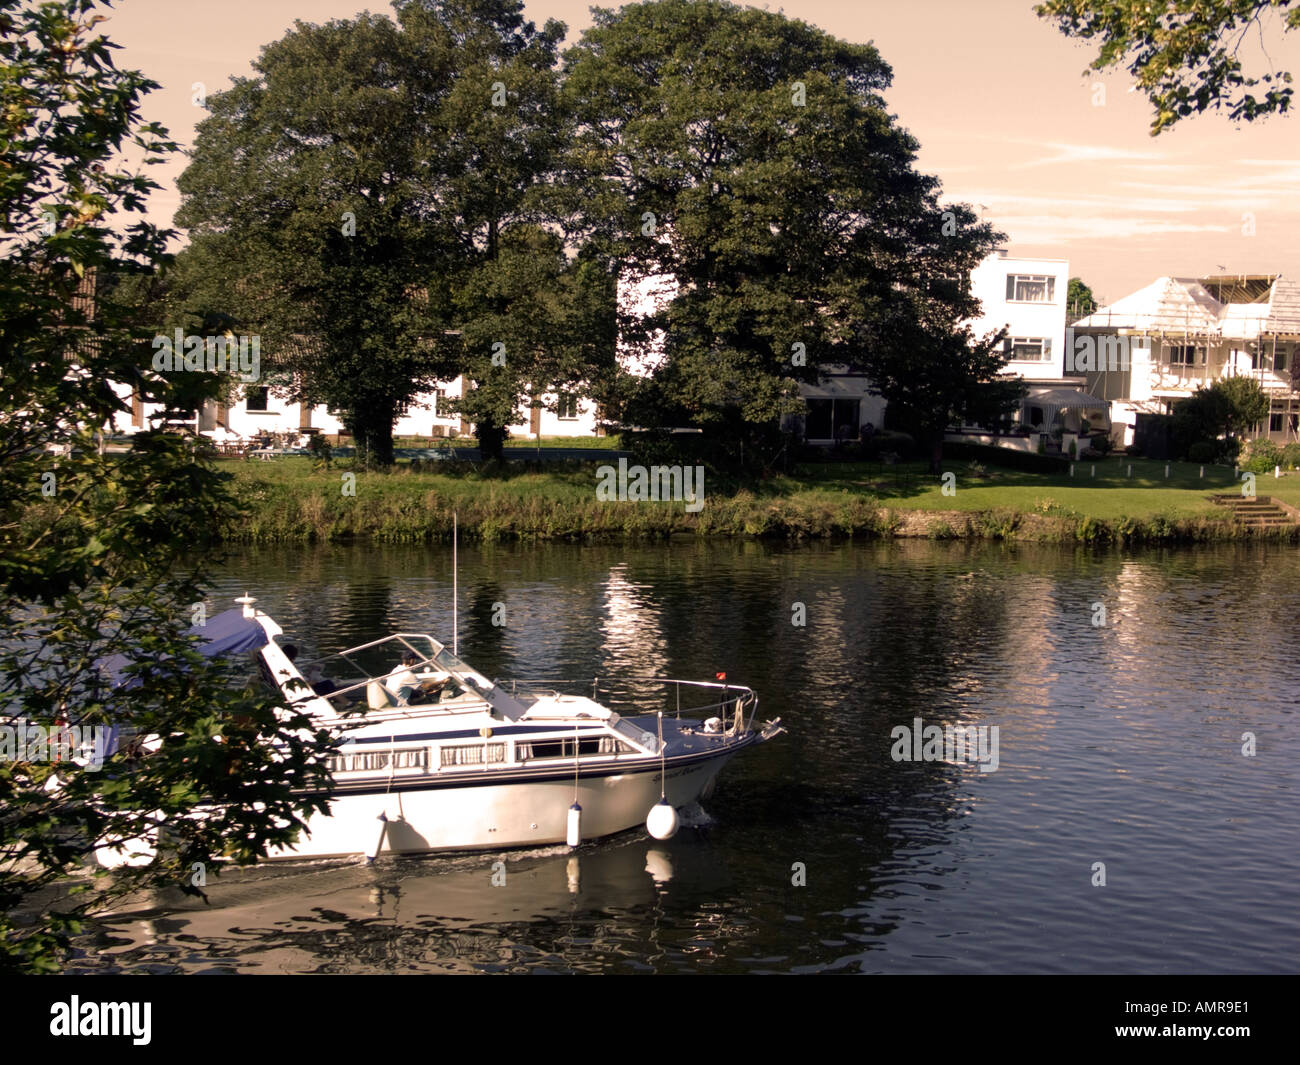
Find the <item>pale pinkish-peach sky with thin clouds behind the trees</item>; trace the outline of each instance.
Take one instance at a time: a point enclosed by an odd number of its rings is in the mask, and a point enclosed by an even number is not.
[[[610,3],[604,7],[616,7]],[[1095,49],[1065,38],[1026,0],[805,0],[754,4],[855,43],[893,69],[885,103],[920,143],[918,168],[944,199],[975,205],[1013,255],[1069,259],[1105,302],[1161,276],[1283,273],[1300,277],[1300,114],[1232,125],[1218,114],[1152,138],[1150,104],[1122,69],[1086,72]],[[100,29],[122,46],[118,66],[162,87],[144,114],[182,146],[208,92],[251,75],[260,48],[295,20],[328,22],[364,0],[120,0]],[[585,0],[530,0],[538,26],[558,18],[575,42],[590,26]],[[1300,73],[1300,33],[1248,42]],[[151,218],[172,224],[177,160],[153,166],[162,185]]]

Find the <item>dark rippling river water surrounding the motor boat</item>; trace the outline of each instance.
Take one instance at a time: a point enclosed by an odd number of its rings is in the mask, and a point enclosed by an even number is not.
[[[573,854],[235,871],[209,880],[211,906],[136,900],[83,940],[79,967],[1294,967],[1294,549],[672,542],[460,557],[460,650],[481,672],[725,671],[789,735],[733,761],[668,843],[638,831]],[[248,586],[312,657],[395,629],[450,636],[442,550],[259,549],[225,572],[211,606]],[[915,718],[998,726],[997,771],[893,762],[890,730]]]

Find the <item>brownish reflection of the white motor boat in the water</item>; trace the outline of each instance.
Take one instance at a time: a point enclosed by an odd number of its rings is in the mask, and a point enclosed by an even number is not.
[[[670,899],[679,880],[689,895]],[[666,971],[758,935],[696,836],[230,869],[207,891],[108,917],[73,971]]]

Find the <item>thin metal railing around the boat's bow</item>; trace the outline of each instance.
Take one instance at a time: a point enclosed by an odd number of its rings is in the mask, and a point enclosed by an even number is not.
[[[592,701],[608,706],[620,714],[628,713],[653,714],[663,710],[664,717],[681,719],[718,717],[723,722],[723,731],[731,731],[740,726],[744,731],[753,723],[758,709],[758,694],[753,688],[744,684],[732,684],[725,680],[680,680],[664,676],[627,676],[627,677],[511,677],[508,681],[498,680],[498,684],[508,684],[511,693],[520,696],[562,696],[572,694],[586,689],[590,690]],[[659,690],[655,690],[658,685]],[[702,701],[701,701],[702,700]],[[664,705],[667,703],[667,705]]]

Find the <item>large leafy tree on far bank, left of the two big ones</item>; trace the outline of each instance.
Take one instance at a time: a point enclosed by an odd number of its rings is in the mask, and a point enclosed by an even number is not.
[[[514,420],[500,411],[567,362],[550,350],[564,338],[507,328],[566,290],[566,270],[512,254],[536,238],[511,235],[549,220],[564,26],[537,30],[519,0],[394,9],[396,22],[299,22],[263,49],[257,77],[208,98],[177,216],[195,308],[261,333],[294,398],[341,411],[380,464],[399,408],[467,369],[463,410],[499,453]]]

